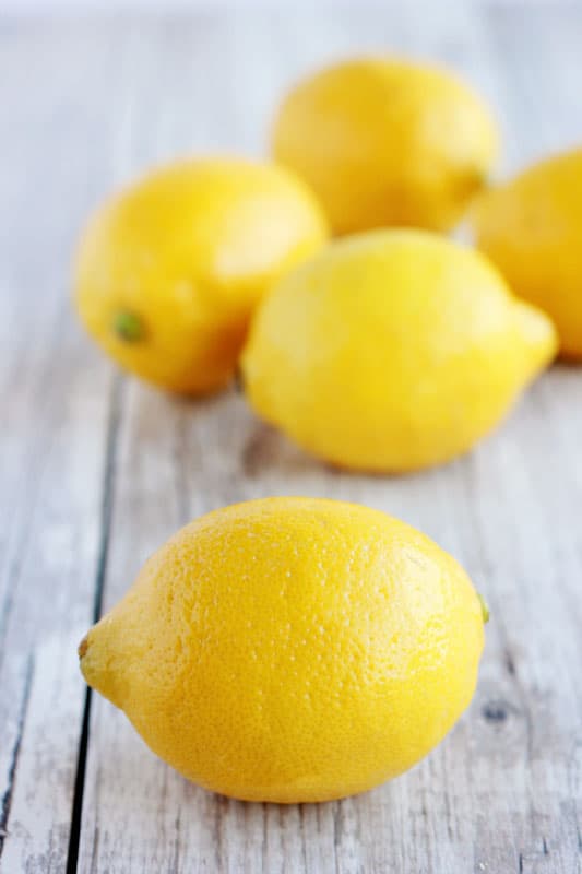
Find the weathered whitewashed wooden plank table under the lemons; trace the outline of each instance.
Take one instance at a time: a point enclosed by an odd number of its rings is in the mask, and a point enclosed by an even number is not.
[[[468,76],[498,109],[504,170],[582,141],[580,7],[0,24],[2,874],[582,871],[582,369],[555,367],[454,464],[352,476],[234,391],[190,403],[121,376],[71,314],[74,241],[107,191],[176,153],[260,153],[280,90],[363,49]],[[492,612],[451,735],[401,779],[333,804],[241,804],[187,783],[78,670],[80,638],[167,535],[277,494],[418,525]]]

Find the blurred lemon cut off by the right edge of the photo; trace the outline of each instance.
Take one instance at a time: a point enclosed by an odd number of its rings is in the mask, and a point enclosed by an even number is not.
[[[474,225],[515,292],[551,316],[562,354],[582,358],[582,149],[492,189]]]

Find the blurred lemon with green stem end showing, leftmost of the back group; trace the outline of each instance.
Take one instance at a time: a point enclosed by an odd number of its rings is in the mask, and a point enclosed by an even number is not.
[[[158,169],[91,221],[75,265],[88,332],[122,367],[198,394],[231,377],[253,307],[324,240],[290,173],[237,160]]]

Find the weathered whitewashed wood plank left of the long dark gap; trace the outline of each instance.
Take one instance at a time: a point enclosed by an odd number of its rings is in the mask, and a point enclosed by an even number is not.
[[[87,143],[117,142],[116,73],[107,43],[75,28],[0,31],[7,874],[61,872],[68,854],[85,700],[74,647],[93,614],[112,374],[74,323],[69,269],[79,225],[111,178],[110,154]]]

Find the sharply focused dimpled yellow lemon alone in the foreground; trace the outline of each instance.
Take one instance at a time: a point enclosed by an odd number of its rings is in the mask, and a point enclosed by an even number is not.
[[[462,568],[413,528],[268,498],[168,541],[88,633],[81,669],[189,779],[324,801],[442,740],[473,695],[483,623]]]

